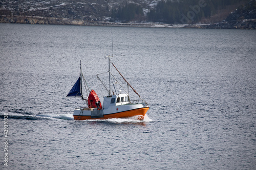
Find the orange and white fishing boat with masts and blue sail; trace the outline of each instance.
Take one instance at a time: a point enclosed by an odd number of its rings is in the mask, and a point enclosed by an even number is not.
[[[87,120],[87,119],[109,119],[109,118],[124,118],[124,117],[135,117],[139,120],[143,120],[147,110],[150,108],[148,107],[147,103],[144,99],[140,98],[140,95],[136,92],[136,90],[125,80],[125,78],[121,75],[119,70],[110,60],[111,56],[108,56],[109,59],[109,88],[103,84],[101,79],[99,78],[99,74],[97,78],[105,87],[106,91],[108,91],[108,95],[103,97],[103,104],[101,105],[100,99],[98,98],[97,93],[90,89],[87,85],[86,79],[82,74],[82,67],[80,61],[80,76],[70,92],[68,93],[67,97],[79,97],[83,101],[86,101],[87,107],[80,107],[75,108],[74,110],[74,119],[75,120]],[[115,67],[118,73],[121,75],[123,80],[127,83],[127,91],[122,87],[125,92],[119,90],[118,94],[116,92],[116,88],[113,83],[113,78],[116,82],[117,79],[113,76],[110,71],[110,63]],[[113,93],[111,93],[111,80],[114,86]],[[83,96],[83,86],[82,82],[84,82],[84,88],[86,89],[87,96],[84,98]],[[119,83],[118,83],[119,84]],[[130,100],[129,96],[129,86],[133,89],[133,91],[139,96],[138,100]],[[90,93],[88,94],[88,92]]]

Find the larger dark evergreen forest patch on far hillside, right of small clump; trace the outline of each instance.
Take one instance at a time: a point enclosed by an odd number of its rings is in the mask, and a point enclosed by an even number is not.
[[[161,1],[148,13],[148,19],[165,23],[196,23],[208,19],[221,21],[248,0],[173,0]]]

